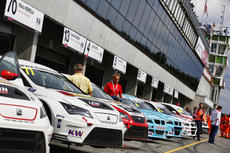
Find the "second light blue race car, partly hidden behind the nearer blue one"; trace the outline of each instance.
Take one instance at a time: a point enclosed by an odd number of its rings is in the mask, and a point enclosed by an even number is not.
[[[173,116],[173,114],[165,106],[161,104],[153,103],[146,100],[145,102],[151,105],[151,107],[153,107],[153,111],[156,115],[165,117],[166,119],[169,120],[167,124],[173,125],[170,127],[172,128],[172,133],[169,132],[167,134],[168,137],[181,137],[181,134],[183,132],[183,127],[182,127],[182,123],[177,119],[177,117]]]

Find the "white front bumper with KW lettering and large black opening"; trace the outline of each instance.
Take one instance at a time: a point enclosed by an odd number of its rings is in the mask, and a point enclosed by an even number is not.
[[[55,140],[105,147],[121,147],[126,130],[122,122],[106,124],[91,118],[56,118],[54,125]]]

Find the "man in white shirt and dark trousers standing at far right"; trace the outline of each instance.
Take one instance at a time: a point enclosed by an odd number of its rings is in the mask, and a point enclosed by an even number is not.
[[[215,136],[218,132],[220,120],[221,120],[221,109],[222,106],[218,105],[217,109],[212,111],[211,114],[211,132],[209,134],[209,144],[215,144]]]

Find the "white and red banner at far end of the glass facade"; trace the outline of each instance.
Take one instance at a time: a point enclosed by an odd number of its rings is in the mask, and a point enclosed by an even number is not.
[[[198,56],[200,57],[200,59],[202,60],[202,62],[204,63],[204,65],[206,66],[208,63],[208,52],[205,49],[204,44],[200,39],[200,37],[198,38],[195,50]]]

